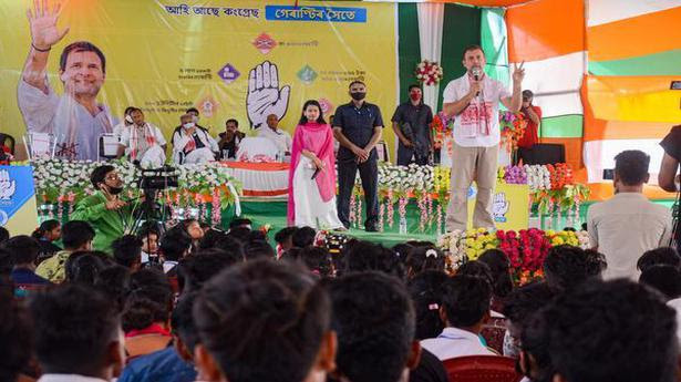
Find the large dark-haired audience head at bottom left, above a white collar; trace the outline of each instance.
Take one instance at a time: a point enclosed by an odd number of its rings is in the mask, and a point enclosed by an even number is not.
[[[40,382],[111,381],[125,363],[120,316],[97,290],[64,285],[29,299]]]

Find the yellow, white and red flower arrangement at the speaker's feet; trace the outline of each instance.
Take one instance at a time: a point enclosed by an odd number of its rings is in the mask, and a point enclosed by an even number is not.
[[[503,250],[508,256],[513,278],[517,285],[544,278],[541,267],[548,250],[560,245],[587,249],[589,248],[588,234],[565,230],[544,231],[537,228],[491,233],[481,228],[466,231],[454,230],[437,239],[437,247],[448,258],[451,272],[455,272],[464,262],[477,259],[487,249]]]

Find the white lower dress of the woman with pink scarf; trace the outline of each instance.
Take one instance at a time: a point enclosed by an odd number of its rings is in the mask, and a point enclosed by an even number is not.
[[[296,226],[309,226],[317,229],[343,227],[343,224],[338,219],[336,197],[329,202],[323,202],[319,194],[317,180],[312,179],[312,174],[314,174],[314,164],[307,156],[301,155],[293,175]]]

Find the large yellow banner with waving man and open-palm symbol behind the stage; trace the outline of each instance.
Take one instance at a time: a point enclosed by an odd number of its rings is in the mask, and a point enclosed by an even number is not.
[[[20,147],[28,130],[51,134],[58,156],[95,159],[99,137],[126,106],[142,109],[168,142],[189,107],[214,136],[228,118],[249,133],[270,114],[292,132],[306,100],[332,114],[350,101],[353,80],[367,83],[386,123],[395,107],[392,3],[42,3],[0,2],[1,130]]]

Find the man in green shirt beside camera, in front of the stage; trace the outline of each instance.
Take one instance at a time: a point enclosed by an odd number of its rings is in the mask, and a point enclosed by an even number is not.
[[[90,175],[94,194],[80,200],[71,220],[85,220],[95,230],[92,246],[111,254],[113,240],[125,235],[126,225],[134,223],[133,207],[121,199],[123,180],[114,166],[96,167]]]

